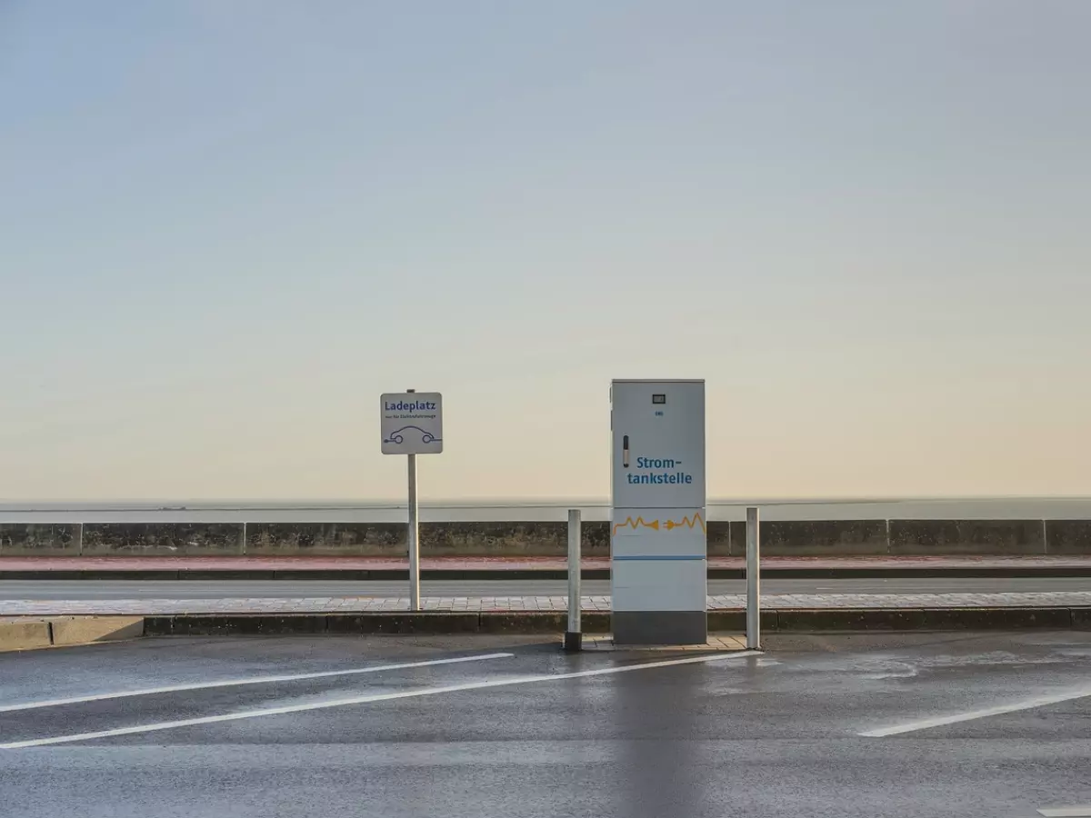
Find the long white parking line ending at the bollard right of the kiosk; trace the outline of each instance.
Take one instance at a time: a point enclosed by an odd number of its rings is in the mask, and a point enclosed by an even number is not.
[[[76,733],[74,735],[59,735],[49,738],[31,738],[22,742],[9,742],[0,744],[0,749],[22,749],[24,747],[43,747],[49,744],[70,744],[72,742],[87,742],[94,738],[112,738],[119,735],[134,735],[137,733],[154,733],[160,730],[173,730],[176,727],[193,727],[201,724],[218,724],[226,721],[240,721],[242,719],[260,719],[264,715],[284,715],[286,713],[302,713],[309,710],[326,710],[334,707],[350,707],[352,705],[368,705],[373,701],[391,701],[393,699],[411,699],[419,696],[437,696],[444,693],[459,693],[461,690],[480,690],[485,687],[507,687],[509,685],[526,685],[533,682],[555,682],[562,678],[580,678],[584,676],[604,676],[611,673],[627,673],[630,671],[645,671],[652,667],[670,667],[675,664],[698,664],[707,662],[722,662],[729,659],[743,659],[744,657],[760,655],[760,651],[743,650],[738,653],[727,653],[721,655],[704,655],[687,659],[670,659],[662,662],[645,662],[643,664],[628,664],[622,667],[600,667],[594,671],[576,671],[574,673],[551,673],[540,676],[521,676],[516,678],[500,678],[489,682],[467,682],[460,685],[448,685],[446,687],[423,687],[416,690],[400,690],[398,693],[381,693],[370,696],[353,696],[346,699],[334,699],[332,701],[315,701],[307,705],[288,705],[286,707],[265,708],[263,710],[249,710],[241,713],[226,713],[224,715],[204,715],[197,719],[182,719],[179,721],[163,721],[154,724],[139,724],[132,727],[117,727],[116,730],[100,730],[94,733]]]

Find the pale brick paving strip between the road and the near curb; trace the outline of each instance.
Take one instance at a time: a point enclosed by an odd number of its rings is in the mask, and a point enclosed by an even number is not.
[[[429,597],[424,611],[565,611],[567,597]],[[708,598],[710,611],[746,606],[742,593]],[[762,606],[792,609],[921,609],[921,608],[1084,608],[1091,591],[1036,591],[996,593],[774,593],[763,594]],[[610,611],[610,597],[583,597],[584,611]],[[291,614],[382,613],[408,611],[406,598],[298,597],[236,599],[146,600],[7,600],[0,616],[76,614]]]

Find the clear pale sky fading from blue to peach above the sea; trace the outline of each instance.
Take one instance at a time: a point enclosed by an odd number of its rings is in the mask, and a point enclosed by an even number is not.
[[[1091,495],[1091,3],[0,0],[0,500]]]

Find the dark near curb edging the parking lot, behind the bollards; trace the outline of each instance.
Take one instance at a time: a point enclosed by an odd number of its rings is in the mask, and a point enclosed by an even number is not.
[[[583,633],[610,633],[610,614],[589,611]],[[288,636],[292,634],[552,634],[565,633],[564,611],[360,614],[177,614],[145,616],[145,636]],[[743,610],[708,612],[710,631],[741,631]],[[827,630],[1091,630],[1091,608],[782,609],[762,612],[774,633]]]

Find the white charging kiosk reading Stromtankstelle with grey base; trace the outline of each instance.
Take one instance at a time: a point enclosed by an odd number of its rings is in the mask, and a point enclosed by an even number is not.
[[[614,642],[704,643],[705,382],[614,381],[610,404]]]

